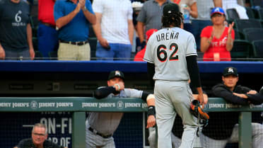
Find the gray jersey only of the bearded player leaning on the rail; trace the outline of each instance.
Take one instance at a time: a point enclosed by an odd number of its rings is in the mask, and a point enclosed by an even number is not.
[[[116,96],[110,93],[107,98],[141,98],[142,93],[143,91],[136,89],[124,89]],[[87,120],[90,127],[97,130],[100,134],[113,135],[119,126],[122,115],[123,113],[91,112]]]

